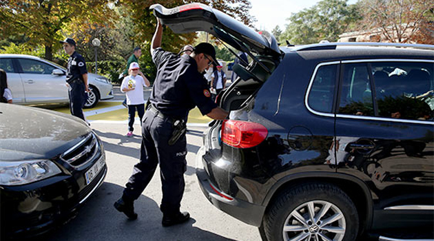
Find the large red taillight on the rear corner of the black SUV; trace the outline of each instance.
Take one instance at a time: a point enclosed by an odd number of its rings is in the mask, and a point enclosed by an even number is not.
[[[223,143],[232,147],[250,148],[262,143],[267,137],[268,130],[259,123],[248,121],[223,121]]]

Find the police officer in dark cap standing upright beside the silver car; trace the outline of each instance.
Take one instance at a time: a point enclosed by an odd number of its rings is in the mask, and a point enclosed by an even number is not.
[[[59,42],[63,43],[63,50],[70,55],[66,83],[69,85],[71,114],[85,121],[83,107],[87,100],[87,92],[89,92],[86,62],[81,54],[75,52],[76,43],[74,39],[67,38]]]

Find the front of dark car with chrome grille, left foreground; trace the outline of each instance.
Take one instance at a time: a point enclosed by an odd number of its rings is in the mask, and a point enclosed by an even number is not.
[[[75,216],[107,174],[84,121],[0,103],[0,239],[44,233]]]

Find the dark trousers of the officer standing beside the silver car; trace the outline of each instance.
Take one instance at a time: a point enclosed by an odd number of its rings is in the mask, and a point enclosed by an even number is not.
[[[82,80],[76,79],[71,81],[69,85],[71,87],[69,91],[71,114],[84,121],[83,107],[87,100],[85,84]]]

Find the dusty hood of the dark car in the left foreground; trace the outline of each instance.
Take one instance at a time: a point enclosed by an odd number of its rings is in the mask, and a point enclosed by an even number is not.
[[[51,159],[89,132],[83,121],[67,114],[0,103],[0,160]]]

